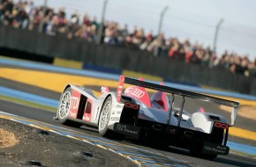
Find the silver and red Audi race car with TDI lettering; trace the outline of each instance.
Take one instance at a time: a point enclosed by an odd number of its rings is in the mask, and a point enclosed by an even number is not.
[[[129,86],[124,90],[124,84]],[[149,98],[147,90],[154,90]],[[180,107],[174,99],[181,98]],[[185,98],[196,98],[233,108],[231,123],[215,113],[184,111]],[[56,119],[70,126],[97,127],[104,137],[129,137],[189,149],[192,155],[214,159],[228,155],[229,128],[234,126],[239,103],[162,84],[120,76],[116,91],[93,91],[68,84],[61,95]]]

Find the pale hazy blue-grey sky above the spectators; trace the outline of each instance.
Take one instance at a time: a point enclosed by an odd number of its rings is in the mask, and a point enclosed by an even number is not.
[[[43,4],[44,0],[34,0]],[[104,0],[48,0],[56,10],[64,6],[70,14],[78,10],[81,17],[102,18]],[[145,29],[146,33],[158,32],[160,13],[164,14],[162,32],[166,37],[186,38],[199,41],[213,48],[215,26],[224,19],[220,27],[217,53],[227,49],[238,54],[256,57],[256,1],[255,0],[108,0],[105,18],[132,29],[134,25]]]

